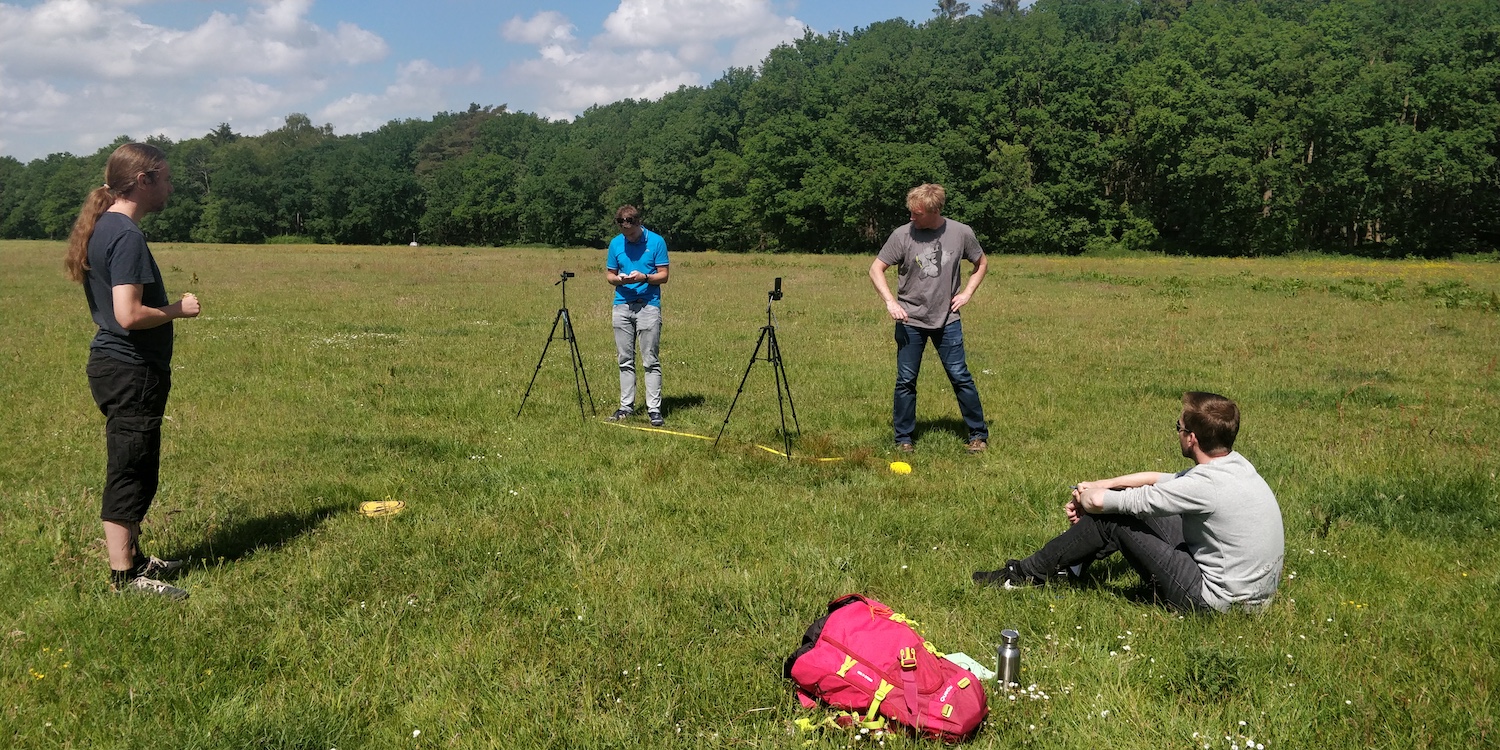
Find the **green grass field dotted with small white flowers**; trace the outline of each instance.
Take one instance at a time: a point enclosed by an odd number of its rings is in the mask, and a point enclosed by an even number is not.
[[[603,422],[600,252],[160,244],[204,309],[177,326],[146,525],[196,561],[170,603],[106,592],[93,327],[62,250],[0,243],[0,746],[882,747],[798,732],[780,675],[849,591],[981,662],[1020,630],[1035,690],[992,694],[972,747],[1500,738],[1500,264],[994,256],[964,309],[992,450],[964,454],[928,356],[902,477],[868,258],[674,258],[668,429],[717,435],[782,276],[786,460],[758,447],[780,446],[764,362],[717,450]],[[518,417],[560,270],[598,414],[556,340]],[[1060,531],[1070,483],[1184,468],[1184,390],[1239,400],[1281,501],[1269,612],[1132,603],[1124,562],[969,584]],[[406,512],[354,512],[387,496]]]

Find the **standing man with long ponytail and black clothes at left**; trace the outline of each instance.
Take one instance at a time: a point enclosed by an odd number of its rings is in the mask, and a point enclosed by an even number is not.
[[[141,552],[141,520],[156,498],[162,416],[172,387],[172,320],[198,316],[198,298],[170,303],[140,222],[166,207],[171,166],[160,148],[124,144],[110,154],[104,184],[84,201],[63,266],[82,284],[99,326],[88,345],[88,390],[105,416],[108,468],[99,518],[110,588],[186,598],[159,580],[183,567]]]

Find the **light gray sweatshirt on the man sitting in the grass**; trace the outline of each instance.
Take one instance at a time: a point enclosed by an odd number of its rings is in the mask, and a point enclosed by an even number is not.
[[[1162,474],[1155,484],[1106,492],[1104,510],[1182,516],[1182,538],[1203,570],[1203,600],[1220,612],[1258,609],[1276,592],[1286,555],[1281,507],[1238,452]]]

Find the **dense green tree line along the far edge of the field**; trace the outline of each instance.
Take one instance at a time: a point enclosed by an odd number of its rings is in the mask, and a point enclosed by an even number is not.
[[[1500,248],[1500,3],[1038,0],[807,33],[756,69],[572,122],[471,105],[147,138],[153,240],[870,252],[906,189],[990,252]],[[950,3],[952,6],[952,3]],[[111,150],[0,158],[0,237],[63,238]]]

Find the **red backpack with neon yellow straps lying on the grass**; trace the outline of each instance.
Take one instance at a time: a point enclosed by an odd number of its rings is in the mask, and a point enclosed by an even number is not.
[[[968,669],[942,658],[915,622],[860,594],[828,603],[802,645],[786,660],[804,706],[818,700],[862,717],[842,723],[884,726],[890,718],[945,742],[974,736],[990,708],[984,686]],[[884,717],[884,718],[878,718]]]

